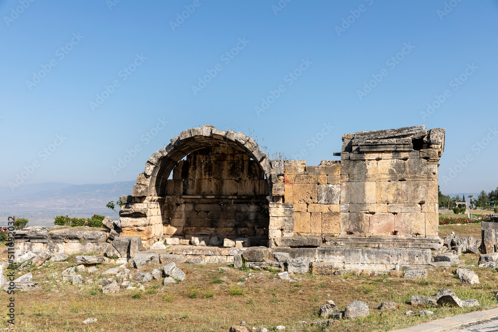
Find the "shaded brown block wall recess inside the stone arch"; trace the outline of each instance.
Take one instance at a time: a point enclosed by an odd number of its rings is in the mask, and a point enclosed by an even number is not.
[[[250,245],[267,245],[268,183],[249,154],[204,147],[178,161],[172,172],[160,188],[166,236],[206,237],[211,245],[249,237]]]

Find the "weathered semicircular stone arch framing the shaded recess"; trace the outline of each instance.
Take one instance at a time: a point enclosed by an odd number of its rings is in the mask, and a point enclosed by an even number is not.
[[[183,228],[180,231],[180,227],[174,227],[172,223],[173,219],[170,220],[169,224],[165,221],[169,218],[165,213],[169,206],[165,203],[178,207],[184,205],[184,198],[186,198],[181,194],[179,195],[180,197],[176,198],[170,196],[171,187],[168,189],[168,184],[171,185],[172,182],[169,176],[175,167],[180,165],[180,161],[184,157],[188,159],[202,150],[231,150],[236,151],[235,153],[249,156],[246,160],[249,160],[249,162],[252,161],[252,165],[255,162],[261,170],[261,172],[256,172],[260,174],[259,181],[265,180],[267,184],[267,186],[265,185],[267,189],[265,189],[264,193],[259,191],[257,195],[254,194],[252,196],[258,202],[257,204],[261,204],[261,199],[264,197],[264,205],[268,207],[264,213],[266,215],[264,217],[266,226],[262,226],[267,227],[267,230],[265,230],[265,234],[267,235],[266,240],[282,236],[283,228],[286,231],[286,235],[284,236],[292,236],[293,222],[287,225],[289,223],[287,219],[291,215],[285,216],[287,222],[285,226],[282,226],[283,223],[281,218],[279,218],[279,214],[275,213],[275,211],[280,211],[278,209],[281,209],[283,206],[284,183],[282,160],[270,161],[266,154],[259,149],[258,144],[243,133],[237,133],[233,130],[219,130],[211,125],[184,130],[170,141],[170,144],[150,156],[145,163],[144,172],[140,173],[137,177],[131,196],[124,196],[122,198],[124,206],[120,211],[122,227],[122,234],[120,236],[140,236],[142,238],[142,245],[148,247],[153,241],[161,237],[186,235],[183,232]],[[264,179],[261,174],[264,174]],[[247,197],[251,197],[250,194],[247,195],[249,195]],[[252,204],[250,203],[249,205],[254,208]],[[239,231],[241,230],[239,227],[246,227],[248,229],[247,227],[249,226],[235,227],[233,229]],[[261,225],[258,224],[257,227],[261,227]],[[260,228],[258,229],[260,230]],[[239,235],[239,232],[237,234]],[[257,240],[262,244],[260,232]],[[266,244],[265,241],[262,245]],[[269,244],[271,245],[271,243]]]

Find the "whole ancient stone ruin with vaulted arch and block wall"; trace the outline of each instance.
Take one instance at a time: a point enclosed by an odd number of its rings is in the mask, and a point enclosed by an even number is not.
[[[120,236],[139,236],[144,248],[166,240],[185,258],[225,257],[214,261],[234,259],[231,247],[265,246],[337,267],[427,264],[442,246],[444,134],[423,125],[345,134],[340,161],[311,166],[270,160],[242,133],[190,128],[154,152],[122,196]],[[182,249],[189,244],[195,253]]]

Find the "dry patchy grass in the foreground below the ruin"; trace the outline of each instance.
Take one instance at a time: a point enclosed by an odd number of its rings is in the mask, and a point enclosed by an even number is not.
[[[478,255],[461,256],[466,264],[476,264]],[[423,309],[409,304],[411,295],[434,295],[439,289],[451,288],[461,299],[477,299],[480,308],[431,308],[440,319],[496,307],[498,291],[496,272],[473,268],[481,283],[463,284],[455,278],[452,268],[429,269],[427,280],[407,280],[385,276],[298,276],[298,282],[274,278],[267,271],[218,271],[226,264],[178,264],[187,274],[179,284],[163,286],[161,281],[146,284],[145,292],[123,291],[105,295],[96,283],[80,286],[56,284],[48,274],[61,272],[74,263],[50,263],[40,270],[32,269],[33,279],[42,290],[15,294],[16,331],[228,331],[230,326],[246,321],[250,326],[265,325],[270,329],[283,325],[285,331],[326,331],[324,328],[303,326],[299,322],[319,320],[318,310],[326,300],[334,300],[339,310],[359,300],[371,308],[371,315],[357,321],[340,321],[327,331],[390,331],[428,322],[431,318],[405,316],[405,312]],[[98,281],[100,272],[114,267],[98,266],[99,274],[81,273],[85,280]],[[157,265],[148,265],[150,272]],[[132,272],[134,271],[131,269]],[[26,273],[23,271],[21,274]],[[134,271],[136,272],[136,271]],[[251,275],[249,276],[249,273]],[[244,285],[237,285],[244,282]],[[1,292],[2,317],[6,315],[8,296]],[[382,301],[396,302],[399,310],[380,312]],[[98,322],[84,325],[88,318]],[[1,328],[7,327],[2,319]],[[274,331],[274,330],[273,330]]]

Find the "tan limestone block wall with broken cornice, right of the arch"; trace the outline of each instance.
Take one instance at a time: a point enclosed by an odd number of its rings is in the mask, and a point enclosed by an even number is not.
[[[444,129],[417,126],[346,134],[340,162],[284,161],[295,235],[437,237],[443,147]]]

